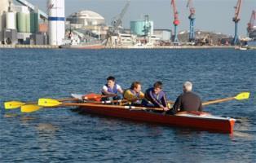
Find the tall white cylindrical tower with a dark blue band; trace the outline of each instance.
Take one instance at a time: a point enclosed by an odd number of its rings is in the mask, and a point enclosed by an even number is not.
[[[60,46],[65,36],[64,0],[48,1],[49,44]]]

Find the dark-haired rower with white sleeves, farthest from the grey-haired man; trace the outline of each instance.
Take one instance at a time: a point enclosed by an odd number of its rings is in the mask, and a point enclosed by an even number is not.
[[[121,86],[119,86],[116,83],[115,77],[112,77],[112,76],[108,77],[107,84],[105,84],[102,87],[102,90],[101,90],[102,95],[109,95],[110,97],[112,96],[113,98],[111,99],[113,100],[121,99],[121,97],[117,95],[118,92],[123,94],[123,90],[121,89]],[[110,98],[104,97],[101,100],[106,101],[106,100],[110,100]]]

